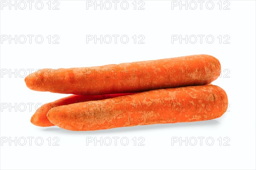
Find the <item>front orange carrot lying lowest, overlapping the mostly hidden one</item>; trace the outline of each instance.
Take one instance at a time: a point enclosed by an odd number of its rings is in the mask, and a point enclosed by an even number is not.
[[[67,130],[101,130],[215,119],[227,110],[227,102],[226,92],[216,85],[189,86],[58,106],[47,117]]]

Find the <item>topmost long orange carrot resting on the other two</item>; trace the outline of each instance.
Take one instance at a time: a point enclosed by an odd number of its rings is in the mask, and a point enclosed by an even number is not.
[[[218,59],[202,54],[98,67],[47,68],[28,75],[25,82],[35,91],[97,95],[207,85],[220,72]]]

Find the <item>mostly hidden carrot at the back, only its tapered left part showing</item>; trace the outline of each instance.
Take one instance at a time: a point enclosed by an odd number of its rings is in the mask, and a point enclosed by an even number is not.
[[[57,106],[62,106],[62,105],[70,105],[70,104],[79,103],[79,102],[109,99],[109,98],[113,98],[113,97],[129,95],[129,94],[134,94],[134,93],[103,94],[103,95],[93,95],[93,96],[81,96],[81,95],[67,96],[67,97],[58,99],[54,102],[49,102],[49,103],[42,105],[40,108],[37,109],[37,111],[35,111],[35,113],[31,117],[30,121],[32,124],[34,124],[36,126],[41,126],[41,127],[54,126],[51,122],[49,122],[49,120],[47,119],[47,116],[46,116],[47,112],[51,108],[55,108]]]

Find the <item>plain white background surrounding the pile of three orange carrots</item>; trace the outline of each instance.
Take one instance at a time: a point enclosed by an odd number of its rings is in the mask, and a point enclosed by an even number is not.
[[[23,4],[20,3],[20,8],[17,6],[15,10],[13,6],[10,10],[9,4],[5,6],[1,1],[1,169],[256,169],[254,0],[212,1],[212,10],[207,9],[211,8],[207,1],[202,4],[202,9],[200,3],[194,1],[197,4],[195,10],[191,9],[194,4],[190,1],[187,1],[187,10],[186,6],[181,10],[174,6],[180,1],[168,0],[144,0],[144,10],[137,9],[143,4],[138,1],[134,10],[133,0],[128,1],[127,10],[120,7],[122,1],[116,10],[112,1],[110,10],[104,7],[94,10],[93,6],[87,10],[88,2],[83,0],[51,1],[50,10],[48,0],[42,1],[44,7],[38,10],[35,2],[31,10],[26,1],[26,9],[21,10]],[[59,9],[52,10],[57,4]],[[224,10],[225,6],[229,9]],[[20,43],[23,39],[15,44],[15,40],[3,40],[5,35],[34,35],[34,38],[31,44],[28,38],[24,44]],[[35,42],[37,35],[44,37],[41,44]],[[52,37],[50,44],[49,35]],[[56,39],[54,35],[59,37],[58,44],[52,43]],[[117,39],[116,44],[113,40],[110,44],[87,43],[86,35],[127,35],[129,42],[124,44]],[[134,44],[134,35],[143,35],[144,44]],[[196,43],[193,44],[194,39],[191,39],[186,44],[185,40],[172,43],[175,37],[172,35],[204,37],[202,43],[198,37]],[[210,39],[205,40],[207,35],[214,37],[212,43],[209,43]],[[224,43],[224,40],[227,41]],[[230,108],[219,119],[84,132],[36,127],[30,123],[38,103],[52,102],[68,95],[29,90],[24,82],[24,70],[27,75],[28,69],[87,67],[192,54],[209,54],[221,62],[221,76],[213,84],[227,92]],[[15,71],[17,75],[10,74]],[[32,109],[28,103],[32,103]],[[15,137],[17,146],[15,142],[9,143],[9,139],[15,140]],[[34,138],[31,146],[28,137]],[[37,137],[44,140],[41,146],[37,145],[40,140],[35,142]],[[59,139],[58,146],[53,146],[54,137]],[[112,144],[87,143],[88,139],[99,140],[101,137],[107,143],[111,138]],[[116,146],[113,137],[119,137]],[[122,137],[129,140],[127,146],[122,145],[125,140],[120,142]],[[172,143],[174,139],[185,140],[186,137],[188,142],[191,139],[187,146],[185,142]],[[192,146],[193,137],[197,139],[195,146]],[[198,137],[204,137],[202,146]],[[208,145],[211,140],[206,142],[207,137],[214,139],[212,146]],[[26,144],[22,146],[24,138]],[[8,142],[3,142],[5,139]],[[142,139],[144,146],[139,146]]]

